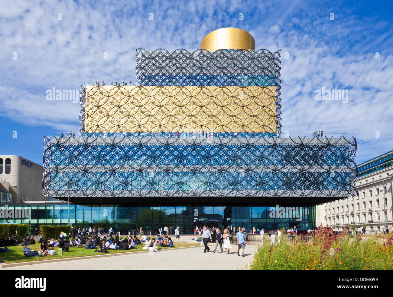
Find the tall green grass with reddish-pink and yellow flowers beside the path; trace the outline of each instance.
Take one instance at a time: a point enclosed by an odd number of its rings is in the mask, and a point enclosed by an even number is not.
[[[393,236],[360,241],[358,235],[329,236],[318,228],[307,243],[300,239],[290,243],[285,238],[280,244],[276,239],[274,246],[266,243],[255,252],[251,270],[393,270]]]

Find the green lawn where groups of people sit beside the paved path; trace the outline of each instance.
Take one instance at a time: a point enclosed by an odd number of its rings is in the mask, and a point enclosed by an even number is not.
[[[185,246],[198,246],[200,244],[195,243],[174,243],[174,248],[181,248]],[[150,252],[149,250],[142,250],[143,245],[137,245],[139,248],[134,250],[108,250],[109,254],[119,254],[119,253],[127,253],[127,252]],[[31,244],[29,245],[31,250],[39,250],[39,244]],[[173,248],[173,247],[158,247],[158,250]],[[99,249],[99,248],[98,248]],[[42,261],[42,260],[51,260],[51,259],[61,259],[61,258],[73,258],[73,257],[83,257],[83,256],[91,256],[91,255],[104,255],[102,253],[95,253],[95,249],[85,250],[84,246],[80,246],[79,248],[70,247],[70,252],[63,252],[62,255],[58,255],[59,248],[55,248],[56,255],[54,256],[45,256],[45,257],[26,257],[23,255],[23,246],[8,246],[7,253],[0,254],[0,263],[19,263],[19,262],[30,262],[30,261]]]

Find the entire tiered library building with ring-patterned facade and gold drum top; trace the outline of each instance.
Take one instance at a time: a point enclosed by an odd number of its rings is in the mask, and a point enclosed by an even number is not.
[[[279,57],[237,28],[137,49],[137,85],[83,85],[79,135],[45,137],[44,195],[69,196],[77,227],[314,228],[315,205],[356,192],[356,140],[281,133]],[[31,224],[64,206],[31,205]]]

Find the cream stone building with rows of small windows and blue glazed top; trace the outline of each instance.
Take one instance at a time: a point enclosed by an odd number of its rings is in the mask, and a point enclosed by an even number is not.
[[[393,150],[358,166],[358,196],[325,203],[316,207],[317,225],[342,229],[364,226],[367,233],[386,227],[393,230]]]

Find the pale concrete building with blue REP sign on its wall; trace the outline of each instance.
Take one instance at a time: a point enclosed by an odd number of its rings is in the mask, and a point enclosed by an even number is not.
[[[0,156],[0,204],[48,200],[42,194],[44,167],[20,156]]]

